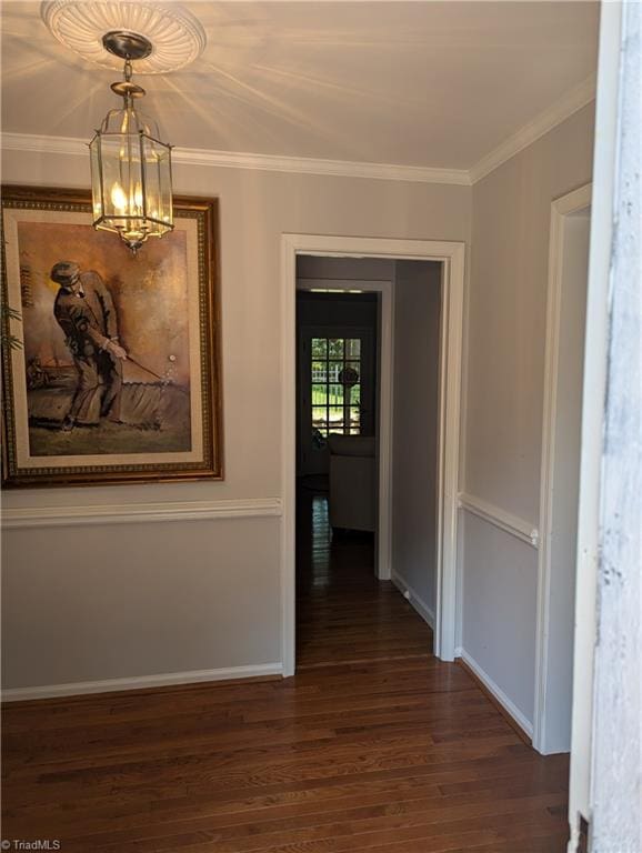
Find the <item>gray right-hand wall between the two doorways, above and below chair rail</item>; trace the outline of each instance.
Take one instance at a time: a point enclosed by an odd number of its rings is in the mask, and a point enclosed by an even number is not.
[[[473,187],[463,491],[539,526],[551,202],[591,180],[590,104]],[[462,648],[533,720],[538,553],[465,512]]]

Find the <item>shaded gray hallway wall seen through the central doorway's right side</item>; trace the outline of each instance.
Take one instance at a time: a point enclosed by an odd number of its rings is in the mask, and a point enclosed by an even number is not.
[[[392,573],[434,622],[441,264],[398,261],[394,281]]]

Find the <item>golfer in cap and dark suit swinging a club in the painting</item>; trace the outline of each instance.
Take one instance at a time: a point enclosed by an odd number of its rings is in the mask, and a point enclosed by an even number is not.
[[[73,261],[51,270],[60,285],[53,314],[64,332],[78,384],[61,429],[96,425],[101,418],[120,422],[122,362],[127,352],[118,341],[118,318],[111,293],[97,272],[81,272]]]

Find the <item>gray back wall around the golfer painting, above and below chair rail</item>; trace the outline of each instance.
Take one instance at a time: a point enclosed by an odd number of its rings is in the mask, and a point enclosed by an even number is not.
[[[89,162],[4,152],[3,180],[86,188]],[[282,496],[281,234],[470,239],[467,187],[188,165],[174,183],[220,199],[224,482],[20,490],[7,508]],[[280,662],[279,535],[251,516],[6,531],[4,685]]]

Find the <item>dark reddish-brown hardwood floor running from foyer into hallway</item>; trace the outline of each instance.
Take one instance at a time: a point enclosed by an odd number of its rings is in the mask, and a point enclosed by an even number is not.
[[[314,526],[310,524],[311,509]],[[67,851],[563,853],[568,760],[525,745],[302,493],[298,673],[10,705],[2,836]]]

